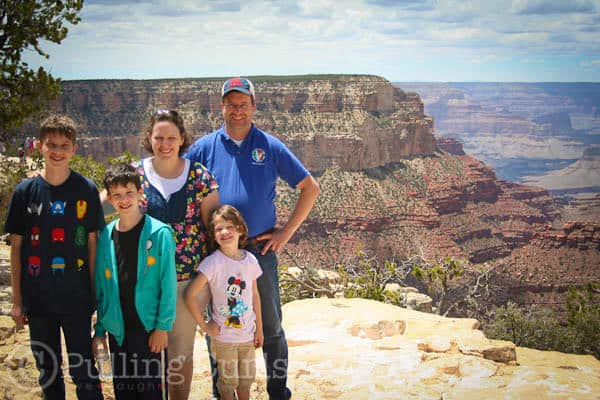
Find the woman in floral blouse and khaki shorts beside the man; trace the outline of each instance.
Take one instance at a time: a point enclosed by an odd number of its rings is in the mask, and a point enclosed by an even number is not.
[[[181,157],[190,144],[191,136],[181,116],[173,110],[158,110],[143,139],[144,148],[153,156],[137,164],[145,212],[170,224],[175,231],[177,315],[167,351],[169,396],[174,400],[188,398],[196,336],[196,322],[185,307],[183,291],[208,255],[205,227],[219,205],[213,175],[204,165]]]

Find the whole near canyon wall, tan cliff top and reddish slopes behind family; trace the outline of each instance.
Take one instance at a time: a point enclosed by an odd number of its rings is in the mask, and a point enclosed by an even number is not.
[[[177,109],[195,136],[218,128],[223,80],[64,82],[54,109],[80,122],[83,155],[102,159],[125,150],[141,155],[139,132],[157,109]],[[307,221],[280,255],[282,263],[327,269],[357,250],[380,260],[454,256],[497,266],[505,279],[499,301],[524,303],[540,300],[528,293],[564,293],[569,285],[600,280],[600,271],[587,268],[600,264],[596,225],[577,225],[581,214],[575,208],[565,213],[543,188],[499,179],[490,165],[465,155],[461,141],[438,142],[418,95],[376,76],[252,80],[257,125],[287,143],[321,185]],[[446,89],[433,85],[431,90],[467,107],[464,93]],[[480,107],[482,115],[501,113],[487,105],[468,107]],[[481,126],[546,137],[528,117]],[[494,140],[502,144],[498,138],[516,136],[504,133]],[[278,218],[285,221],[297,193],[285,184],[277,192]],[[597,202],[584,206],[600,208]],[[565,226],[572,228],[567,232]]]

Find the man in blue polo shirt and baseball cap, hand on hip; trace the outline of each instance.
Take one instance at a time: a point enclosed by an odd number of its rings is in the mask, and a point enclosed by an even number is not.
[[[256,256],[263,270],[257,283],[265,337],[267,392],[271,400],[287,400],[291,397],[286,385],[288,349],[281,327],[275,253],[308,216],[319,194],[319,185],[280,140],[254,126],[256,96],[250,80],[232,78],[225,82],[221,109],[224,125],[198,139],[185,157],[200,161],[215,175],[221,203],[235,206],[246,219],[250,237],[247,250]],[[275,227],[274,202],[278,177],[300,191],[294,211],[280,228]],[[213,380],[215,375],[213,371]]]

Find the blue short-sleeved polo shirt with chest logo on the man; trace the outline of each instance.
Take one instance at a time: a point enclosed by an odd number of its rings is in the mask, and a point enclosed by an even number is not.
[[[223,125],[198,139],[184,157],[201,162],[215,176],[221,204],[231,204],[242,212],[250,237],[275,226],[277,178],[295,188],[309,175],[279,139],[254,124],[240,146]]]

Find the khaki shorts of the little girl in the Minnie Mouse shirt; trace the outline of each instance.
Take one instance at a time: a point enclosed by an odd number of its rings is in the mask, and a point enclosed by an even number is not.
[[[256,377],[254,341],[223,343],[211,339],[210,354],[217,361],[219,393],[233,396],[238,388],[250,389]]]

